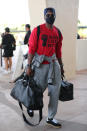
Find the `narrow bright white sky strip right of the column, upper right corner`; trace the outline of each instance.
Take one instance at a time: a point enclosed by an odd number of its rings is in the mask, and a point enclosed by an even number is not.
[[[84,25],[87,25],[87,0],[79,0],[78,19]]]

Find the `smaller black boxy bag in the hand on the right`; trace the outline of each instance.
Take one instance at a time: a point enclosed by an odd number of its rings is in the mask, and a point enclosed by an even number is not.
[[[62,80],[60,88],[60,101],[70,101],[73,100],[73,84]]]

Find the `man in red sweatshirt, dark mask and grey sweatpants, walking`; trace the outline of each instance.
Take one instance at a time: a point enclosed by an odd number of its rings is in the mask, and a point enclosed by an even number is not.
[[[34,70],[34,80],[43,92],[48,87],[49,105],[47,124],[61,128],[61,124],[54,119],[58,108],[59,91],[61,86],[62,64],[62,34],[53,25],[56,18],[54,8],[44,10],[45,24],[36,27],[29,39],[29,55],[27,75]]]

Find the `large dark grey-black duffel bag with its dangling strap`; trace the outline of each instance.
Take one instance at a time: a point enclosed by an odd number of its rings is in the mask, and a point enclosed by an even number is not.
[[[31,77],[29,80],[24,78],[16,81],[15,86],[11,91],[11,96],[18,100],[24,121],[30,126],[38,125],[42,120],[43,93],[42,89],[36,85],[34,79]],[[39,110],[38,124],[34,125],[26,119],[25,114],[23,113],[22,104],[28,110]]]

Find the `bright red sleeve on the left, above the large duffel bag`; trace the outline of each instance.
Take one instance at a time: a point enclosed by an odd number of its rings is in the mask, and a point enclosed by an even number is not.
[[[28,44],[29,44],[28,53],[34,55],[37,50],[37,28],[34,28],[34,30],[32,31]]]

